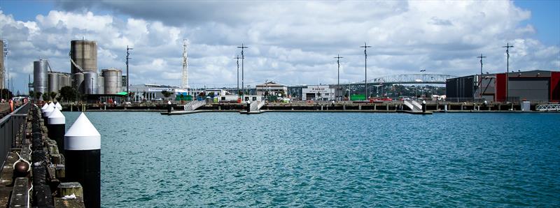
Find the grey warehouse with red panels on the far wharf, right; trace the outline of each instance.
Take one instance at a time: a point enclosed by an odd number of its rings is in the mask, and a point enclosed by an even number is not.
[[[484,101],[560,101],[560,71],[529,70],[456,77],[446,81],[446,95]],[[481,100],[481,101],[482,101]]]

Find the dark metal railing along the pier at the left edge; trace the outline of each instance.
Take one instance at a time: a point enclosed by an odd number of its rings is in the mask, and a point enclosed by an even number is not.
[[[18,107],[10,114],[0,119],[0,157],[3,158],[8,154],[12,147],[15,147],[15,135],[18,133],[19,128],[24,124],[29,112],[31,103],[25,103]]]

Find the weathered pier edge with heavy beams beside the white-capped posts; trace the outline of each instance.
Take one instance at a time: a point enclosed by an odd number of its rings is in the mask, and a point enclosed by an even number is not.
[[[53,196],[66,178],[65,158],[48,137],[42,117],[37,105],[27,103],[0,120],[1,154],[6,156],[0,171],[0,207],[85,207],[81,197]]]

